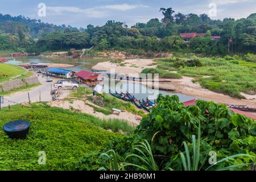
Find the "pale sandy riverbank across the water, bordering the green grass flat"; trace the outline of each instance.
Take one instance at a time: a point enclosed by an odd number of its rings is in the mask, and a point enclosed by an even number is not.
[[[93,67],[93,69],[110,71],[110,69],[115,70],[115,72],[120,75],[134,75],[138,76],[144,68],[155,68],[153,60],[148,59],[135,59],[126,60],[125,67],[121,67],[118,64],[113,64],[110,62],[98,63]],[[183,76],[181,79],[159,79],[159,89],[175,89],[176,93],[185,94],[187,96],[192,96],[207,101],[214,101],[223,104],[234,104],[234,105],[246,105],[249,107],[256,107],[256,96],[243,94],[246,99],[239,100],[230,96],[226,96],[221,93],[212,92],[208,89],[204,89],[199,83],[193,83],[193,77]],[[139,83],[139,82],[138,82]],[[152,86],[152,84],[147,82],[142,82],[144,85]]]

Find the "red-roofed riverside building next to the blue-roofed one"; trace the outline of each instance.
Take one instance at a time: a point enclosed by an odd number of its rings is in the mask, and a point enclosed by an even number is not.
[[[76,81],[88,86],[96,86],[100,83],[100,76],[85,70],[75,73],[75,76]]]

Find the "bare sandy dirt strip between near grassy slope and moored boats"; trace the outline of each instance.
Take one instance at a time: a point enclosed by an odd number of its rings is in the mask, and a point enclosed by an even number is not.
[[[123,119],[124,121],[127,121],[131,126],[138,126],[140,121],[136,119],[136,117],[141,118],[139,115],[135,115],[132,113],[129,113],[127,111],[122,111],[119,115],[117,114],[110,114],[105,115],[100,112],[94,112],[93,107],[90,107],[89,105],[86,105],[85,101],[82,100],[73,100],[71,101],[52,101],[49,102],[49,105],[52,107],[61,107],[63,109],[75,109],[81,111],[81,113],[90,114],[95,117],[101,118],[101,119]]]

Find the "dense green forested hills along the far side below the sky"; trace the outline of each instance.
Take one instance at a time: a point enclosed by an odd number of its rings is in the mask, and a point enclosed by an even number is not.
[[[109,20],[102,27],[89,24],[85,29],[56,26],[24,16],[0,14],[0,49],[23,48],[27,52],[57,49],[87,48],[127,49],[142,51],[187,51],[203,55],[256,52],[256,13],[235,20],[210,19],[208,15],[181,14],[171,8],[160,9],[163,19],[151,19],[131,28],[122,22]],[[207,33],[207,36],[185,43],[180,33]],[[221,36],[212,40],[210,35]],[[36,39],[35,39],[36,38]],[[228,52],[229,39],[230,52]]]

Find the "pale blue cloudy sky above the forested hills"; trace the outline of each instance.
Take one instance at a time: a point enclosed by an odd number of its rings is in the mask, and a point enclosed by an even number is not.
[[[163,18],[161,7],[172,7],[175,13],[208,14],[212,19],[246,18],[256,13],[256,0],[0,0],[0,13],[24,15],[57,25],[85,28],[88,24],[103,26],[107,20],[133,26],[151,18]],[[43,3],[39,6],[40,3]],[[46,9],[44,11],[44,5]],[[46,14],[44,14],[44,12]],[[40,15],[40,16],[39,16]],[[43,15],[43,16],[42,16]],[[45,15],[45,16],[44,16]]]

